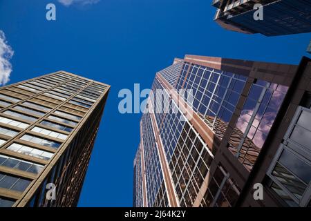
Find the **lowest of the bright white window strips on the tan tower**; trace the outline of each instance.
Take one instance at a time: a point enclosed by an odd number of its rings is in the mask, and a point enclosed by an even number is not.
[[[32,157],[37,157],[42,160],[50,160],[51,157],[53,157],[53,153],[47,152],[47,151],[41,151],[37,148],[33,148],[30,146],[26,146],[23,144],[17,144],[13,143],[8,148],[6,148],[9,151],[14,151],[17,153],[23,153],[25,155],[30,155]]]

